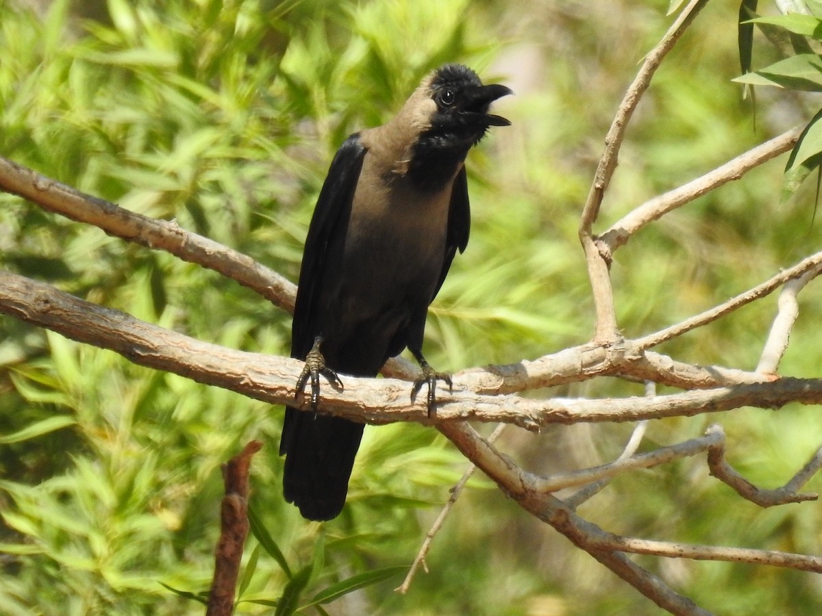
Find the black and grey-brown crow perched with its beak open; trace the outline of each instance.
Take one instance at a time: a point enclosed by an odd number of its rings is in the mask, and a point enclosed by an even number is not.
[[[483,85],[469,67],[432,71],[382,126],[353,133],[339,147],[316,201],[300,267],[291,356],[305,361],[295,393],[311,384],[312,410],[286,407],[279,454],[283,493],[302,517],[333,519],[344,507],[363,423],[317,412],[319,377],[343,388],[338,372],[374,377],[408,348],[427,385],[436,382],[422,352],[427,309],[456,251],[468,244],[470,209],[464,161],[490,126],[488,113],[513,92]]]

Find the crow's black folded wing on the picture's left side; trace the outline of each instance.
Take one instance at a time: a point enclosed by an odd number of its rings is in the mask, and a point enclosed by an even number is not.
[[[308,227],[305,250],[302,253],[297,301],[291,326],[291,356],[305,359],[311,350],[316,319],[316,301],[319,285],[326,269],[330,241],[337,233],[344,233],[351,216],[351,201],[360,169],[363,168],[365,148],[359,133],[354,133],[339,146],[322,185],[316,208]]]

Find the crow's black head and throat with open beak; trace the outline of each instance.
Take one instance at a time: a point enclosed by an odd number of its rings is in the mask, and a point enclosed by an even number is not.
[[[477,73],[461,64],[446,64],[423,81],[431,106],[427,126],[413,148],[410,171],[432,187],[450,177],[489,126],[508,126],[504,117],[488,113],[491,103],[514,94],[505,85],[483,85]],[[428,103],[431,104],[430,102]]]

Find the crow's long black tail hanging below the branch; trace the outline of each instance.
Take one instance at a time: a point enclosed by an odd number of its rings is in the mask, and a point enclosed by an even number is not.
[[[364,424],[286,407],[279,455],[285,454],[283,494],[308,520],[339,515]]]

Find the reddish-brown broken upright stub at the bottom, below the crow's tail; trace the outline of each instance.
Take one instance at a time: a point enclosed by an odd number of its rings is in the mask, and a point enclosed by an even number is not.
[[[242,548],[248,536],[248,471],[262,444],[252,440],[222,467],[225,496],[220,506],[220,531],[215,550],[206,616],[230,616],[240,572]]]

